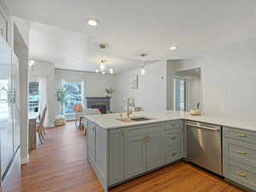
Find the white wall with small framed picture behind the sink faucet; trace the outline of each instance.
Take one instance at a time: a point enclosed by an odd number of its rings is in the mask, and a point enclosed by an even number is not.
[[[124,97],[133,96],[135,105],[148,111],[166,109],[166,61],[146,65],[146,74],[140,68],[116,76],[116,109],[121,112],[125,106]],[[131,77],[139,76],[138,89],[131,88]]]

